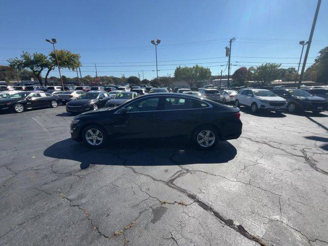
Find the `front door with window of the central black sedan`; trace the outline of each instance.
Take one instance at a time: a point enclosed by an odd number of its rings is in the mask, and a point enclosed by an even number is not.
[[[115,113],[117,138],[154,138],[159,136],[160,96],[141,98],[126,105],[126,113]]]

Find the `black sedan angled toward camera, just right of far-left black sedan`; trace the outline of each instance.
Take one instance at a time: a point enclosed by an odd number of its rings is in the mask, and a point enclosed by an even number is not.
[[[83,113],[104,107],[110,99],[106,91],[89,91],[66,104],[66,111],[70,113]]]

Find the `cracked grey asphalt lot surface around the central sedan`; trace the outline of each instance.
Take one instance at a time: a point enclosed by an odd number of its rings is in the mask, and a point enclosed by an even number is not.
[[[91,150],[64,107],[0,115],[0,245],[328,245],[328,113],[241,110],[211,151]]]

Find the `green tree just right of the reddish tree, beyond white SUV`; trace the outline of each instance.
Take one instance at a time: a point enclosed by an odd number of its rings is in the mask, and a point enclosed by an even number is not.
[[[261,81],[262,86],[279,77],[279,68],[281,64],[266,63],[255,69],[254,78]]]

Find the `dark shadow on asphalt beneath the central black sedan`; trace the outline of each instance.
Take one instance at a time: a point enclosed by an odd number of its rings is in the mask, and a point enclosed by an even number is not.
[[[80,162],[80,168],[90,165],[170,166],[195,163],[224,163],[235,158],[236,148],[228,141],[208,151],[187,146],[185,141],[163,139],[117,141],[101,149],[91,149],[70,138],[56,142],[44,155],[56,159]]]

